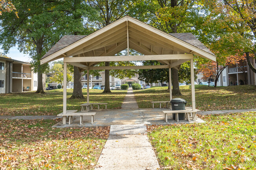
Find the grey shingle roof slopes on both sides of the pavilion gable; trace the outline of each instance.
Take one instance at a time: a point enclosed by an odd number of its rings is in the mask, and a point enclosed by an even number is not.
[[[214,55],[202,42],[200,42],[197,37],[195,37],[192,33],[171,33],[169,34],[173,37],[176,37],[196,48],[199,48],[211,55]],[[48,57],[49,55],[73,44],[74,42],[86,37],[86,35],[65,35],[63,36],[41,59]],[[215,56],[215,55],[214,55]]]

